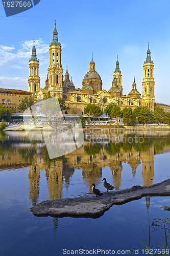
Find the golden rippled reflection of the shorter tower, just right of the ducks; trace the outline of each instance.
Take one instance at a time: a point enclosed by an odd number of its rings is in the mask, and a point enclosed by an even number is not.
[[[119,189],[121,183],[121,173],[123,170],[122,162],[115,160],[111,162],[110,166],[110,169],[112,170],[115,189]]]

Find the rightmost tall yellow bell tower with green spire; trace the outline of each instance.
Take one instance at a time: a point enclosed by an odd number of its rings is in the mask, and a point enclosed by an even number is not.
[[[151,60],[150,45],[148,44],[147,59],[143,64],[143,82],[142,82],[142,105],[147,106],[150,110],[155,109],[154,95],[154,63]]]

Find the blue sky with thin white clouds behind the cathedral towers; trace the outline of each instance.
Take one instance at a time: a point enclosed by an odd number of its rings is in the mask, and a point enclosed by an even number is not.
[[[34,39],[44,88],[56,19],[63,75],[68,66],[76,88],[82,88],[93,52],[95,70],[108,91],[118,55],[123,94],[131,91],[135,77],[142,96],[143,63],[150,42],[155,102],[170,105],[169,9],[169,0],[41,0],[25,12],[6,17],[0,2],[0,88],[28,91]]]

